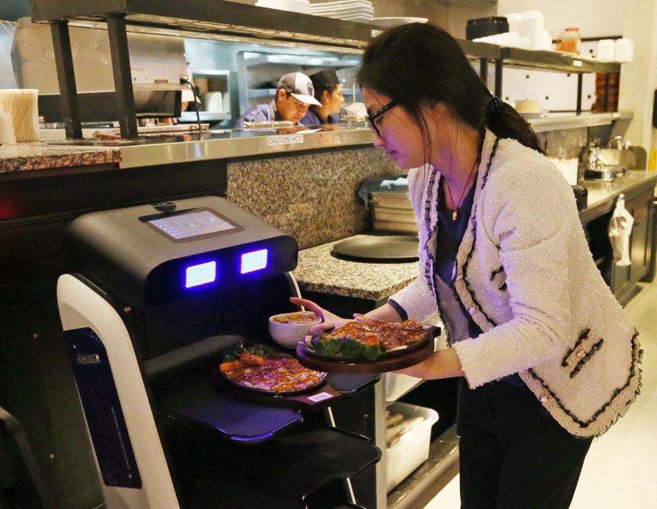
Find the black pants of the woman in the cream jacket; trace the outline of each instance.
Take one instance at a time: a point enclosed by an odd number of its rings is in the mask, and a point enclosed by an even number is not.
[[[524,386],[461,380],[462,509],[567,509],[591,439],[564,430]]]

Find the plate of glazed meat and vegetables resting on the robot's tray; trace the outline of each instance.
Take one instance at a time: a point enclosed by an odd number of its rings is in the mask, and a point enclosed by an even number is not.
[[[218,374],[234,387],[272,396],[313,391],[326,380],[326,373],[308,369],[293,356],[262,343],[235,345],[224,355]]]

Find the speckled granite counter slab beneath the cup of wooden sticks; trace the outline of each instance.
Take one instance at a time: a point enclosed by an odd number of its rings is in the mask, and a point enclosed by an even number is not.
[[[0,145],[0,174],[69,166],[118,164],[116,148],[53,146],[39,144]]]

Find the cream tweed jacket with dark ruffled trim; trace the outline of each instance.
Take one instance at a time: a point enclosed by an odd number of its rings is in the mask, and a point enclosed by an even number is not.
[[[409,172],[420,274],[391,296],[420,321],[438,311],[439,181],[428,165]],[[638,332],[593,262],[571,187],[541,154],[486,131],[454,276],[456,293],[483,331],[453,345],[471,388],[519,373],[578,436],[602,434],[636,399]]]

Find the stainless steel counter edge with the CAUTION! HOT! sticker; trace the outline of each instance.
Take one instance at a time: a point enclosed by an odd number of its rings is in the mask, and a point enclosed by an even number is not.
[[[120,148],[120,168],[137,168],[203,159],[231,159],[250,155],[273,155],[337,146],[371,146],[373,140],[374,137],[369,128],[352,127],[345,131],[272,133],[252,138],[190,140],[188,142],[123,146]]]

